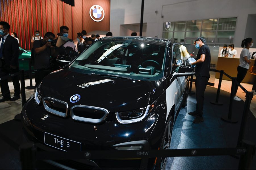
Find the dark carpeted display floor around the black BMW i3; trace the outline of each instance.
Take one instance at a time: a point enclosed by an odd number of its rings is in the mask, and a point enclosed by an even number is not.
[[[193,91],[195,87],[193,84]],[[195,117],[188,112],[195,110],[195,95],[188,96],[187,106],[179,112],[174,124],[170,149],[187,148],[230,148],[236,147],[244,101],[234,101],[232,116],[238,123],[231,124],[221,120],[221,116],[228,114],[228,92],[220,92],[219,101],[222,106],[212,105],[217,89],[207,86],[205,90],[204,121],[194,124]],[[249,111],[244,139],[256,143],[256,118]],[[21,169],[18,148],[13,143],[22,144],[22,126],[17,120],[10,120],[0,124],[0,169]],[[174,157],[168,158],[166,169],[237,169],[239,159],[232,156],[203,156],[203,157]],[[38,162],[37,169],[57,169],[49,164]],[[256,158],[253,157],[251,169],[256,169]]]

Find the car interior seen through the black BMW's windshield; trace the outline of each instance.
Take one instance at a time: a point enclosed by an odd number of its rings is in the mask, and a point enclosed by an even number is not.
[[[108,42],[97,48],[79,65],[93,69],[102,69],[131,74],[158,75],[163,70],[165,46]]]

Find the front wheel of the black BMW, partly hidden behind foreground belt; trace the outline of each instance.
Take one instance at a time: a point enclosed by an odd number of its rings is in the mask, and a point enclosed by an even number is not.
[[[161,141],[161,145],[159,147],[160,149],[169,149],[170,147],[171,137],[172,137],[172,124],[173,124],[173,118],[172,116],[170,116],[166,124],[165,131],[163,133],[163,138]],[[155,169],[165,169],[166,161],[167,161],[167,157],[157,158]]]

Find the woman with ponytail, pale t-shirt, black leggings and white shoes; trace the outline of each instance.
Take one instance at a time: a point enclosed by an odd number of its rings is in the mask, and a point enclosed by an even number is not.
[[[239,84],[243,81],[249,69],[249,64],[251,63],[251,55],[249,52],[249,48],[253,46],[253,39],[252,38],[244,39],[242,41],[241,46],[244,48],[240,54],[240,59],[239,59],[240,64],[237,67],[237,76],[236,76],[236,80],[238,81]],[[234,100],[241,101],[242,99],[236,96],[237,89],[238,89],[238,85],[236,84]]]

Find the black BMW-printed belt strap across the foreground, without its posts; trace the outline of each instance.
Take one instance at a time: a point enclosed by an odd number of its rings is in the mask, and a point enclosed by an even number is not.
[[[129,159],[155,157],[187,157],[187,156],[220,156],[242,155],[245,147],[238,148],[195,148],[195,149],[167,149],[167,150],[87,150],[87,151],[56,151],[36,152],[37,160],[65,160],[65,159]]]

